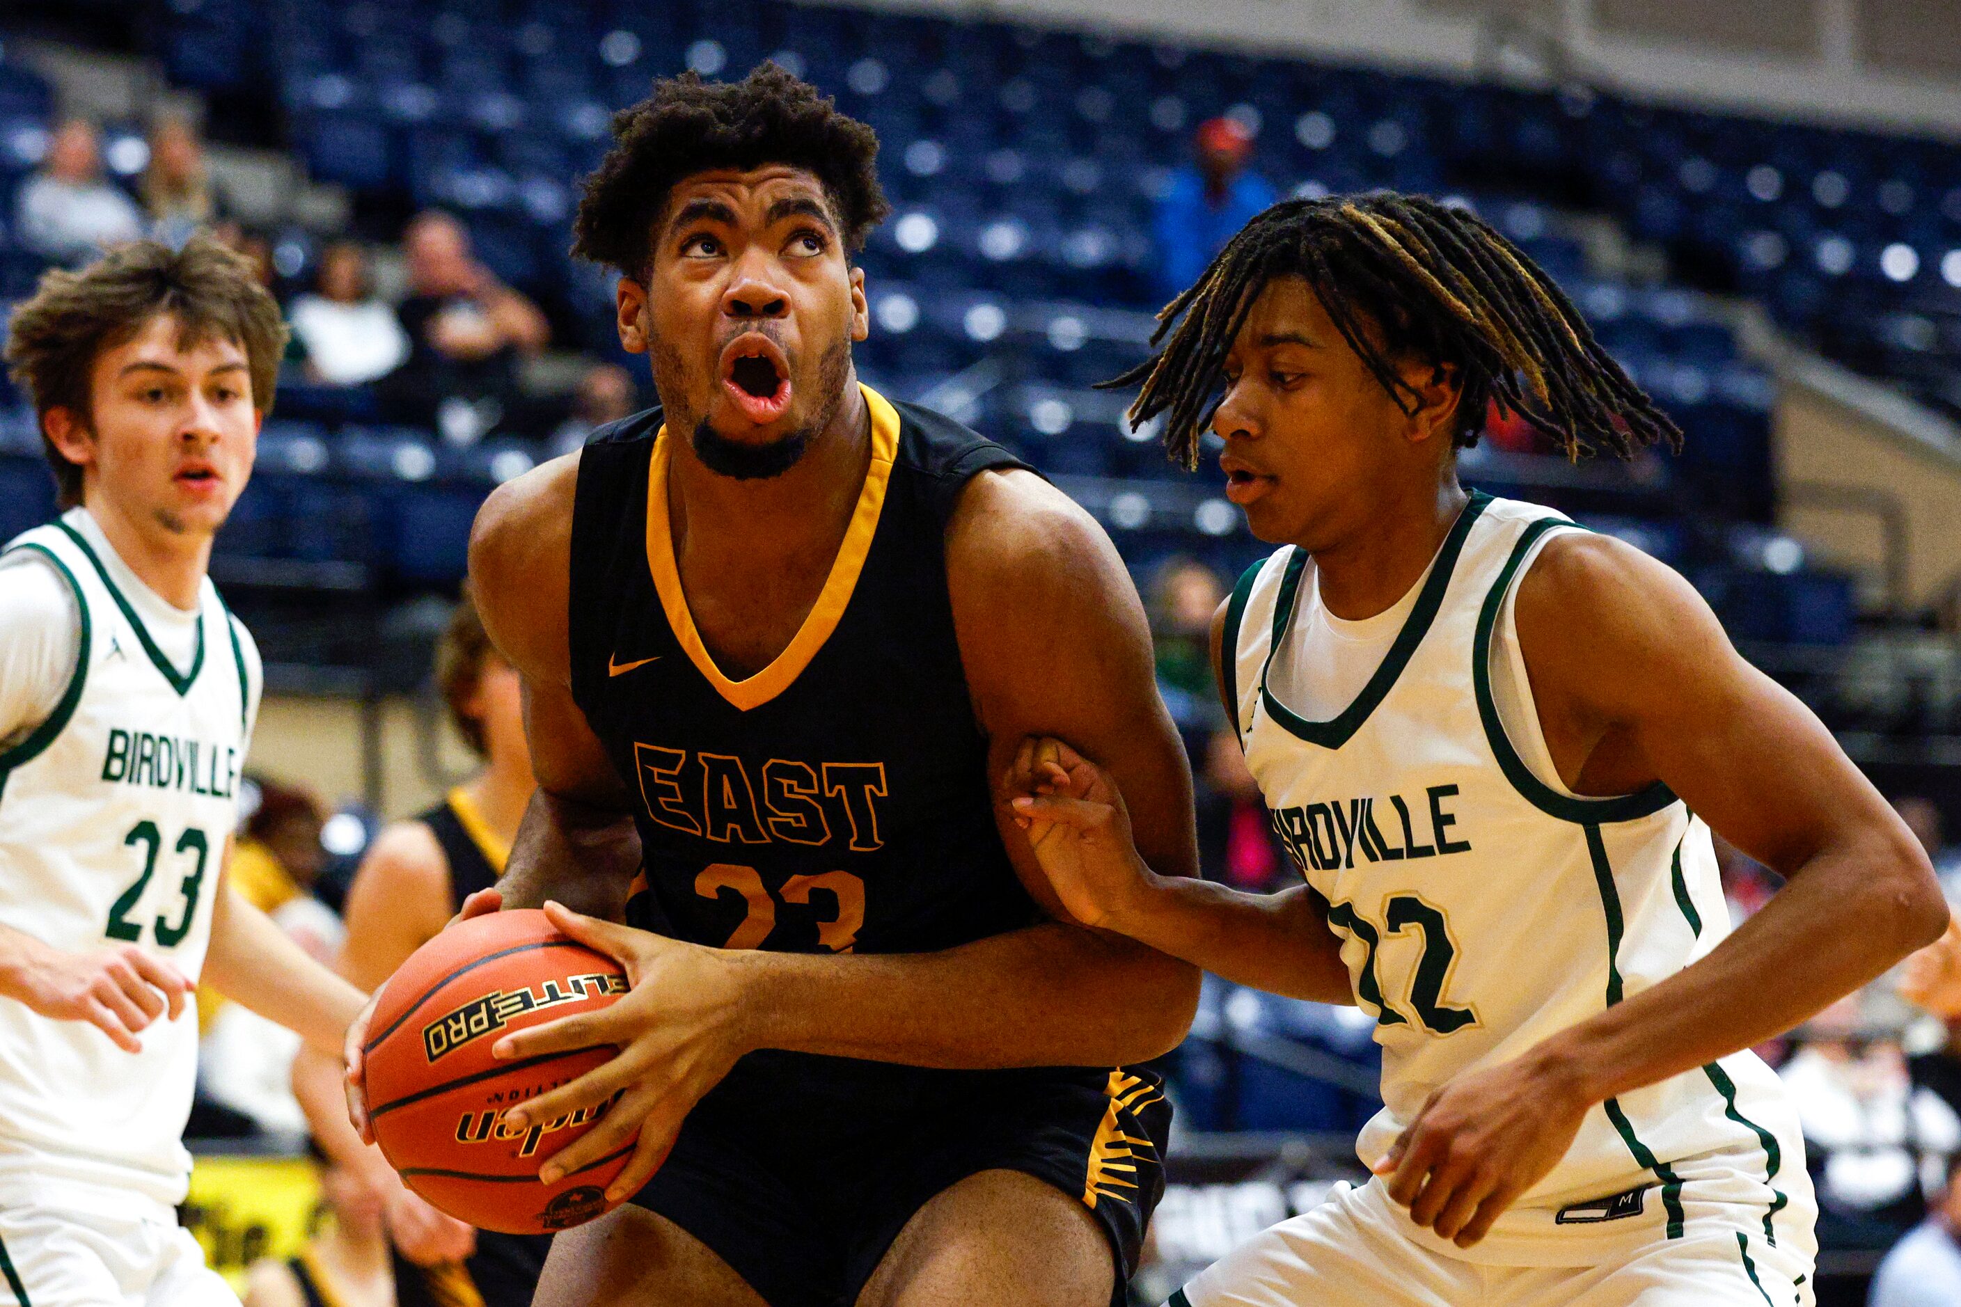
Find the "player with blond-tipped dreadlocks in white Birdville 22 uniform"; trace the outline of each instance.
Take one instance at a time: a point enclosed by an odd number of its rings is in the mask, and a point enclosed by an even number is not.
[[[1131,419],[1186,464],[1210,425],[1281,545],[1214,660],[1306,884],[1159,876],[1061,741],[1012,803],[1075,919],[1375,1017],[1384,1101],[1365,1186],[1173,1303],[1812,1301],[1804,1144],[1749,1048],[1941,933],[1928,860],[1681,576],[1457,482],[1490,400],[1573,457],[1673,423],[1526,255],[1414,196],[1267,210],[1153,343]],[[1712,829],[1788,878],[1735,933]]]

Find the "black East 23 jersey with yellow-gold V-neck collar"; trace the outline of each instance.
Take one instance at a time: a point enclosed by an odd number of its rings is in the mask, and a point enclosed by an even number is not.
[[[628,921],[794,952],[920,952],[1037,919],[994,825],[947,598],[971,476],[1026,466],[865,390],[873,455],[802,629],[729,682],[688,615],[659,410],[584,447],[573,508],[573,698],[635,792]]]

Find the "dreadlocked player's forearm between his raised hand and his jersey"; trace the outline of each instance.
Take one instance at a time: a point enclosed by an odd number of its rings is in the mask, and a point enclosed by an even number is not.
[[[1306,886],[1245,894],[1190,876],[1149,876],[1104,925],[1269,993],[1353,1003],[1341,941]]]

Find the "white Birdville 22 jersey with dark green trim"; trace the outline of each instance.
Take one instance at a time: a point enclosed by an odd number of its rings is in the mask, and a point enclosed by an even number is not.
[[[1710,831],[1665,786],[1563,794],[1506,737],[1492,635],[1512,639],[1506,598],[1547,533],[1571,529],[1473,496],[1375,676],[1328,721],[1286,705],[1284,670],[1335,653],[1290,639],[1320,602],[1306,551],[1251,568],[1228,607],[1247,764],[1377,1017],[1384,1109],[1357,1140],[1365,1164],[1451,1078],[1639,993],[1730,931]],[[1530,684],[1516,692],[1535,713]],[[1410,1234],[1473,1260],[1584,1264],[1602,1240],[1706,1221],[1810,1240],[1810,1211],[1796,1113],[1739,1052],[1590,1109],[1565,1160],[1475,1248]]]

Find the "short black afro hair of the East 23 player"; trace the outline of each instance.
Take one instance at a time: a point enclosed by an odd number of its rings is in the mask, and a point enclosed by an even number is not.
[[[653,94],[614,114],[614,145],[586,178],[573,253],[641,278],[653,223],[675,182],[710,169],[780,163],[812,172],[837,212],[847,253],[865,247],[890,206],[879,188],[879,135],[830,96],[775,63],[739,82],[694,73],[661,78]]]

